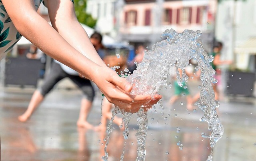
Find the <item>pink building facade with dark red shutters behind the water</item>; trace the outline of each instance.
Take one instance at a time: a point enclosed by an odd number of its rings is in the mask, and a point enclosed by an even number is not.
[[[204,47],[214,38],[216,0],[125,0],[120,24],[122,40],[155,44],[166,29],[201,30]]]

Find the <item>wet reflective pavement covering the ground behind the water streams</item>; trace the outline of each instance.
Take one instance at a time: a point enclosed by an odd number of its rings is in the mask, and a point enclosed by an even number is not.
[[[191,84],[192,94],[198,92]],[[189,86],[190,87],[190,86]],[[194,87],[194,88],[193,88]],[[18,121],[30,101],[33,88],[0,88],[0,135],[2,161],[101,161],[105,132],[76,127],[82,93],[78,89],[54,89],[26,123]],[[156,105],[148,112],[146,161],[205,161],[210,154],[208,124],[200,122],[203,112],[186,110],[183,96],[174,105],[168,99],[172,88],[161,89],[164,109]],[[226,99],[225,99],[226,100]],[[252,99],[253,100],[253,99]],[[183,102],[183,105],[181,105]],[[98,92],[88,121],[100,123],[101,95]],[[224,136],[214,147],[214,161],[256,160],[256,106],[254,101],[230,99],[221,101],[218,109],[224,125]],[[124,147],[122,131],[115,127],[108,145],[109,161],[120,160]],[[180,132],[177,133],[177,127]],[[129,124],[125,161],[135,161],[138,129],[136,115]],[[177,143],[183,144],[180,150]]]

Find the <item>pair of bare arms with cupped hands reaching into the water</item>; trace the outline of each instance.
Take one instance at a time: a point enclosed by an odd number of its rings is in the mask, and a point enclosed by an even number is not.
[[[136,112],[140,105],[150,101],[150,107],[161,98],[160,95],[155,95],[152,100],[149,95],[126,93],[132,86],[100,59],[88,35],[77,21],[71,1],[47,1],[54,28],[38,15],[33,0],[2,2],[20,34],[44,53],[94,81],[111,103],[124,107],[126,111]]]

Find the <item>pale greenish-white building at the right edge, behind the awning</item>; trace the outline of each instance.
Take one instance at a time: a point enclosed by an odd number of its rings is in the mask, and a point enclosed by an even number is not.
[[[256,1],[225,0],[218,4],[216,39],[223,42],[222,59],[234,68],[256,71]]]

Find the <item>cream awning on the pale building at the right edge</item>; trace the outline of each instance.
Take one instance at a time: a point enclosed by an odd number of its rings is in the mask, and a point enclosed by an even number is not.
[[[236,54],[256,54],[256,37],[251,37],[235,48]]]

